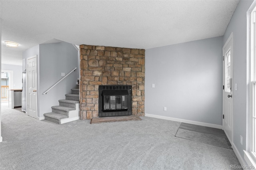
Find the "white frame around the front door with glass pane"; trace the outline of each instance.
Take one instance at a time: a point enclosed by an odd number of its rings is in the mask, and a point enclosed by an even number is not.
[[[234,123],[234,81],[233,81],[233,78],[234,78],[234,68],[233,68],[233,63],[234,63],[234,44],[233,44],[233,32],[230,34],[230,36],[229,36],[229,38],[228,38],[228,40],[226,41],[226,43],[225,43],[225,45],[223,46],[223,48],[222,48],[222,54],[223,54],[223,57],[224,57],[224,59],[225,59],[225,54],[224,54],[224,49],[227,47],[227,45],[229,44],[229,43],[231,43],[231,48],[230,48],[230,51],[231,51],[231,53],[232,53],[232,61],[231,61],[231,75],[232,75],[232,82],[231,82],[231,90],[232,90],[232,93],[231,93],[231,95],[232,95],[232,117],[231,117],[231,125],[230,125],[230,128],[231,128],[231,138],[228,138],[229,140],[230,140],[230,143],[231,143],[231,145],[233,146],[233,136],[234,136],[234,125],[233,125],[233,123]],[[223,61],[224,62],[224,61]],[[223,65],[225,64],[225,62],[223,63]],[[223,68],[223,67],[222,67]],[[224,72],[225,70],[222,70],[222,75],[223,75],[223,72]],[[223,77],[223,85],[225,86],[225,77]],[[226,88],[226,87],[224,87],[224,88]],[[223,89],[223,95],[222,95],[222,113],[224,114],[224,93],[225,93],[225,89]],[[224,121],[225,121],[225,119],[222,119],[222,130],[224,130],[224,132],[225,132],[225,129],[224,129]],[[225,132],[226,133],[226,132]],[[227,135],[227,137],[228,137],[228,135]]]

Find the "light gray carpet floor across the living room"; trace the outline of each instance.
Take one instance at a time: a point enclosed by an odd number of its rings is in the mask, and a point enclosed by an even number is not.
[[[175,137],[180,122],[62,125],[2,107],[0,170],[230,170],[233,150]]]

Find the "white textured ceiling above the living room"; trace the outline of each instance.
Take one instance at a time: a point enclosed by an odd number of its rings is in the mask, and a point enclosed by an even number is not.
[[[149,49],[223,36],[238,0],[0,0],[2,63],[53,39]],[[10,48],[4,41],[14,41]]]

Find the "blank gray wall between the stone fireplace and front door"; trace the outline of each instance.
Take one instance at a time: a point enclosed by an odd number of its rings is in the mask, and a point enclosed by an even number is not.
[[[146,49],[145,113],[222,125],[222,38]]]

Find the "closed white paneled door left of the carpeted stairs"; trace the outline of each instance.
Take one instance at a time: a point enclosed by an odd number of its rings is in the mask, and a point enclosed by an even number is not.
[[[27,59],[27,111],[37,118],[37,56]]]

